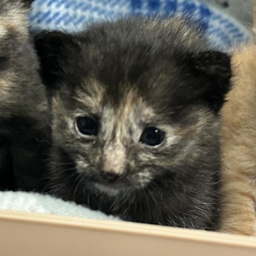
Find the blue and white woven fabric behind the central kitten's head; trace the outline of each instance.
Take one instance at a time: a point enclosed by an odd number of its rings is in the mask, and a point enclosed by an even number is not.
[[[92,21],[121,15],[186,13],[199,22],[210,42],[227,49],[250,40],[249,31],[238,21],[197,0],[36,0],[30,14],[31,29],[77,31]]]

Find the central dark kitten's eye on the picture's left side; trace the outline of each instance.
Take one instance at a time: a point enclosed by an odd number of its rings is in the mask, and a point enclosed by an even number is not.
[[[90,117],[78,117],[76,120],[76,126],[82,134],[89,136],[95,136],[98,134],[98,122]]]

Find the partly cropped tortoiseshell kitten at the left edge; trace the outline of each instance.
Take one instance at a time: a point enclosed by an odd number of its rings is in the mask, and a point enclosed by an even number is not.
[[[0,188],[41,189],[49,109],[29,36],[32,1],[0,1]]]

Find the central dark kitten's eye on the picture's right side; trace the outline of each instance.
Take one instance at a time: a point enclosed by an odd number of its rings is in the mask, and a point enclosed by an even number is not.
[[[140,142],[148,146],[156,146],[164,140],[165,132],[157,129],[156,127],[147,127],[141,134]]]

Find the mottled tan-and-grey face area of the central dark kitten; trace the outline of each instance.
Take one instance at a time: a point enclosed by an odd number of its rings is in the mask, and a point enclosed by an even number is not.
[[[135,91],[125,92],[119,105],[113,106],[103,86],[91,83],[88,87],[98,87],[97,94],[78,89],[70,99],[73,107],[64,106],[66,99],[59,94],[53,99],[53,134],[55,143],[64,146],[73,158],[77,172],[90,177],[90,185],[109,195],[145,188],[181,163],[193,164],[202,151],[199,131],[217,128],[218,122],[207,108],[189,105],[157,113]],[[79,130],[79,118],[92,119],[97,133]],[[205,127],[209,123],[212,125]],[[163,133],[162,141],[158,138],[161,135],[154,134],[157,130]],[[104,178],[106,173],[117,175],[118,181]]]

